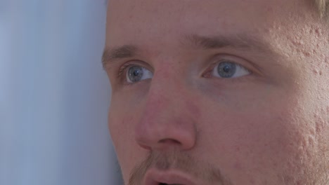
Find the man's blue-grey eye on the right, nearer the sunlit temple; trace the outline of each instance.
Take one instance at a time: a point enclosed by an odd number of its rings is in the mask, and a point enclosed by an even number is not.
[[[234,62],[219,62],[212,70],[212,76],[218,78],[238,78],[250,74],[248,69]]]

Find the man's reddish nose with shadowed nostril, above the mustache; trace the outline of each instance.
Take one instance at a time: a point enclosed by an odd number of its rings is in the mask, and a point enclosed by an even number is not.
[[[151,88],[148,92],[135,129],[136,142],[144,149],[189,150],[195,146],[195,106],[186,93],[173,91]]]

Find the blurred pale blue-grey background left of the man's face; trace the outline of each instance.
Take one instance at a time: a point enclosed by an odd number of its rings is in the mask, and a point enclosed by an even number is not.
[[[105,0],[0,0],[0,184],[122,184]]]

